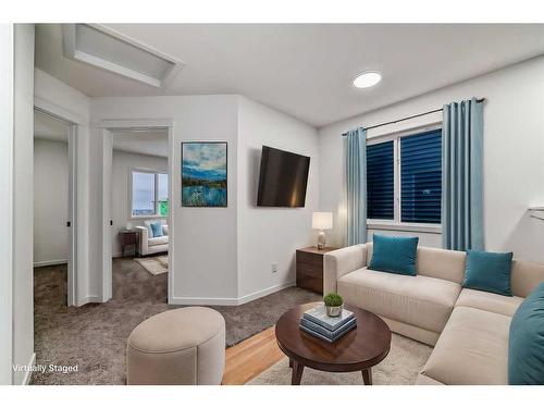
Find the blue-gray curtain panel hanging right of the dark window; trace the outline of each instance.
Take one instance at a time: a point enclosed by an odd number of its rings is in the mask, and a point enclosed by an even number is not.
[[[483,120],[474,98],[444,106],[442,243],[483,250]]]

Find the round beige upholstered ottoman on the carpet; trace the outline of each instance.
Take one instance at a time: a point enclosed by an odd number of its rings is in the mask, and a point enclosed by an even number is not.
[[[128,336],[127,384],[221,384],[224,368],[225,320],[213,309],[169,310]]]

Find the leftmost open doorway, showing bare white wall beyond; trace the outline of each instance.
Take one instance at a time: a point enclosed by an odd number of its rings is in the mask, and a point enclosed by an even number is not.
[[[54,276],[62,289],[58,287],[52,296],[67,306],[76,305],[77,294],[76,128],[51,112],[34,110],[34,271],[38,277],[46,272]]]

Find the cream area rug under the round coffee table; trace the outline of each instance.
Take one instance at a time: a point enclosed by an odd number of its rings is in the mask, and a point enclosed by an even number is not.
[[[393,333],[387,357],[372,368],[374,385],[412,385],[424,366],[432,347]],[[290,368],[287,357],[263,371],[248,385],[289,385]],[[362,385],[360,371],[333,373],[305,367],[301,385]]]

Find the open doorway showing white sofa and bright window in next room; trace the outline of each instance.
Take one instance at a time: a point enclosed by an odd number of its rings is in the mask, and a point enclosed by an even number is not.
[[[173,282],[174,222],[172,214],[173,197],[173,126],[171,121],[163,120],[131,120],[102,121],[100,123],[102,140],[102,301],[113,297],[114,272],[113,258],[124,252],[120,246],[122,234],[137,232],[138,243],[133,248],[135,261],[148,258],[158,259],[164,265],[166,276],[166,299],[170,302]],[[160,143],[159,143],[160,140]],[[143,151],[136,151],[136,149]],[[147,150],[146,150],[147,149]],[[150,149],[150,150],[149,150]],[[158,149],[158,150],[157,150]],[[132,150],[121,153],[122,150]],[[160,152],[159,152],[160,151]],[[128,154],[126,154],[128,153]],[[162,157],[162,164],[153,164],[156,160],[137,159],[135,154]],[[131,156],[132,165],[120,164],[121,157]],[[114,166],[114,161],[116,165]],[[119,185],[113,186],[121,177],[127,181],[120,195]],[[122,178],[123,180],[123,178]],[[121,184],[120,184],[121,185]],[[140,189],[140,191],[137,191]],[[123,199],[126,197],[127,199]],[[127,202],[124,202],[127,201]],[[162,236],[154,236],[150,224],[157,224]],[[143,236],[145,234],[145,242]],[[160,234],[159,234],[160,235]],[[157,243],[151,243],[151,239]],[[132,239],[129,242],[133,242]],[[156,245],[158,244],[158,245]],[[115,249],[116,248],[116,249]],[[166,257],[168,256],[168,257]],[[159,265],[159,264],[158,264]],[[160,267],[160,265],[159,265]],[[146,268],[147,269],[147,268]],[[151,274],[152,268],[147,269]],[[166,272],[168,271],[168,272]],[[116,276],[120,277],[120,276]],[[119,284],[119,279],[115,281]]]

